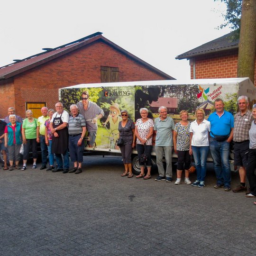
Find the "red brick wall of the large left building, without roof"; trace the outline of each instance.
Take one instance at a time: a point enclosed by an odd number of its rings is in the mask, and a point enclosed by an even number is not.
[[[25,118],[26,102],[46,102],[48,108],[54,108],[58,88],[101,82],[101,66],[118,67],[119,82],[166,80],[166,77],[98,41],[17,75],[13,84],[1,85],[0,117],[5,117],[7,109],[13,106],[16,113]]]

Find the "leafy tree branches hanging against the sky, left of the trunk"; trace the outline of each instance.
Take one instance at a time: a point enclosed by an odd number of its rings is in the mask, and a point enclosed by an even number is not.
[[[241,10],[242,0],[214,0],[224,2],[227,6],[225,14],[222,16],[225,18],[225,23],[221,24],[218,28],[229,26],[232,30],[236,30],[236,36],[239,37],[240,22],[241,22]]]

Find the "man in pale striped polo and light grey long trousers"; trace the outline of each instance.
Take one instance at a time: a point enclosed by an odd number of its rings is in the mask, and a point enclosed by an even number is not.
[[[174,120],[167,116],[167,108],[158,109],[159,118],[155,119],[155,155],[159,176],[156,181],[172,182],[172,151],[173,151],[173,130]],[[166,171],[163,165],[163,154],[165,153]],[[166,179],[165,179],[166,176]]]

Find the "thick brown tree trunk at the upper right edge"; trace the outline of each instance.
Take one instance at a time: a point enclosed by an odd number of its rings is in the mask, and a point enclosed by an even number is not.
[[[238,77],[254,82],[256,55],[256,0],[243,0],[238,50]]]

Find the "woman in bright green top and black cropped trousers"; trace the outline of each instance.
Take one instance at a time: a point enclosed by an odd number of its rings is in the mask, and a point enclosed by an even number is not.
[[[26,116],[27,118],[23,120],[22,124],[22,138],[24,146],[22,171],[27,169],[27,159],[30,148],[32,150],[34,161],[32,169],[37,168],[37,119],[33,118],[31,110],[26,111]]]

